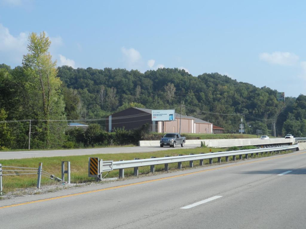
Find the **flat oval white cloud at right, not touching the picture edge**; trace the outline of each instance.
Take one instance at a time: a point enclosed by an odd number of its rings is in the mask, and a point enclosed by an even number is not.
[[[273,52],[273,53],[260,53],[260,60],[266,61],[270,64],[279,65],[293,65],[297,64],[299,57],[294,53],[289,52]]]

